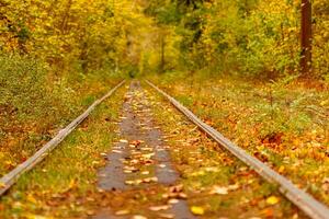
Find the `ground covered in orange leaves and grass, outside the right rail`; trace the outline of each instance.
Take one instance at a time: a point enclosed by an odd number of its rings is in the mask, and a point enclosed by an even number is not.
[[[170,73],[154,81],[207,124],[329,204],[328,88]]]

